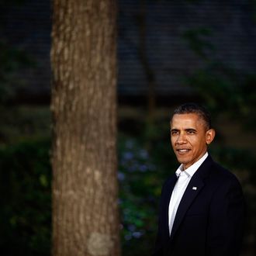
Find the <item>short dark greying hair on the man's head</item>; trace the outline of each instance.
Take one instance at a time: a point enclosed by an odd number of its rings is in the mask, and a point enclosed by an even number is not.
[[[194,102],[189,102],[178,106],[178,108],[176,108],[173,112],[172,116],[174,116],[175,114],[182,115],[190,113],[195,113],[200,118],[202,118],[202,120],[206,123],[207,130],[212,128],[212,120],[208,110],[205,107]]]

